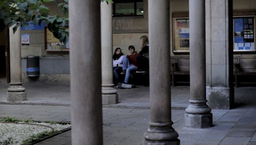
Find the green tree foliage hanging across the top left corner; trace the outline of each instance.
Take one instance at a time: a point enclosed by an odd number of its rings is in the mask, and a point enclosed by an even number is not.
[[[113,2],[112,0],[101,0]],[[64,17],[59,15],[50,15],[50,10],[46,4],[54,2]],[[47,28],[53,33],[54,37],[63,43],[67,43],[69,39],[68,32],[65,31],[65,25],[68,25],[68,0],[62,0],[57,3],[56,0],[0,0],[0,32],[7,26],[13,27],[13,32],[19,26],[28,26],[28,22],[41,25],[44,22]]]

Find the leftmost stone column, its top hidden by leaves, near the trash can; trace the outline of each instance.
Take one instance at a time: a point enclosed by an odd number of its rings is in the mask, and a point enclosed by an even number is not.
[[[25,101],[26,89],[22,86],[21,78],[21,37],[20,27],[13,34],[13,27],[9,28],[10,32],[10,73],[11,82],[7,89],[7,101]]]

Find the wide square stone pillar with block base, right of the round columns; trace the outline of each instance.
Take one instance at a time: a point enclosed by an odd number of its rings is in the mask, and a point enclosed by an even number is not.
[[[210,108],[231,109],[234,105],[232,0],[206,0],[206,7],[206,98]]]

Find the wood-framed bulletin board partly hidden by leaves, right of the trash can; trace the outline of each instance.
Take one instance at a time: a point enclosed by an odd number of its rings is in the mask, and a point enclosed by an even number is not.
[[[66,31],[68,32],[68,26],[66,27]],[[64,45],[64,43],[61,43],[59,39],[56,39],[52,32],[48,30],[48,28],[45,26],[44,30],[45,35],[45,51],[49,52],[56,52],[56,51],[69,51],[69,41]]]

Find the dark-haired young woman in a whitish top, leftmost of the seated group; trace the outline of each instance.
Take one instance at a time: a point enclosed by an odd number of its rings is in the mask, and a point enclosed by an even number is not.
[[[118,86],[120,83],[119,76],[123,67],[123,58],[124,54],[121,51],[121,48],[116,48],[113,55],[113,73],[114,73],[114,83]]]

